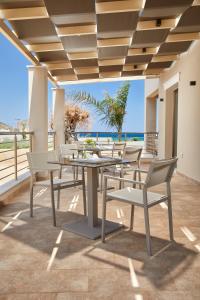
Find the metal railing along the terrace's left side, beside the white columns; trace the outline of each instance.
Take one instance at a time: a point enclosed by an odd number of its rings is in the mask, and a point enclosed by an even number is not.
[[[28,169],[26,153],[32,151],[33,132],[0,132],[0,185],[17,180]],[[48,150],[55,149],[55,132],[48,134]]]

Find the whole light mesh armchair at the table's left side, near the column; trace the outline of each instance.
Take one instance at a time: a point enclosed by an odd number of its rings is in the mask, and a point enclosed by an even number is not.
[[[85,193],[85,177],[84,170],[82,170],[81,180],[67,180],[61,178],[61,167],[57,164],[51,164],[49,161],[58,161],[56,151],[49,152],[29,152],[27,153],[29,169],[31,172],[30,181],[30,216],[33,217],[33,188],[34,186],[50,187],[51,189],[51,205],[53,213],[53,225],[56,226],[56,211],[54,201],[54,191],[58,191],[57,208],[60,206],[60,190],[70,187],[82,185],[83,187],[83,207],[84,215],[86,215],[86,193]],[[58,172],[58,178],[54,178],[53,173]],[[38,173],[48,173],[47,180],[37,180]]]

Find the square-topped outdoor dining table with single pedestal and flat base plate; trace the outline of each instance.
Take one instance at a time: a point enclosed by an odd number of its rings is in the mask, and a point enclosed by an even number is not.
[[[49,161],[49,163],[61,166],[78,166],[87,169],[87,216],[71,223],[64,224],[64,230],[87,237],[97,239],[101,236],[101,219],[98,218],[98,169],[116,164],[130,163],[128,160],[116,158],[77,158]],[[122,227],[121,224],[112,221],[105,222],[105,233],[111,233]]]

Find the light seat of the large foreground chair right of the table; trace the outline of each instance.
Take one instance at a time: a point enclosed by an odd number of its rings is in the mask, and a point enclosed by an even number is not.
[[[121,190],[107,193],[107,197],[111,199],[116,199],[124,202],[133,203],[138,206],[144,206],[143,202],[143,191],[139,189],[134,189],[127,187]],[[147,202],[148,206],[152,206],[158,202],[166,200],[165,195],[147,192]]]

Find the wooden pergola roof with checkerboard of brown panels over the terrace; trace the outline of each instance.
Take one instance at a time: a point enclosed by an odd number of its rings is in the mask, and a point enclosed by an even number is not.
[[[0,31],[55,84],[159,76],[200,35],[200,1],[0,2]]]

